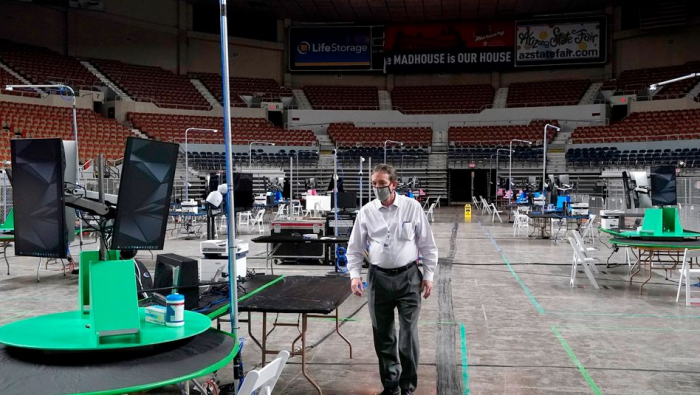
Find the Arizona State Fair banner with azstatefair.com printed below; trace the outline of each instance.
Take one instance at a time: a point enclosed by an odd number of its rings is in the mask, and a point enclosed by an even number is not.
[[[605,63],[606,26],[605,17],[516,22],[515,66]]]

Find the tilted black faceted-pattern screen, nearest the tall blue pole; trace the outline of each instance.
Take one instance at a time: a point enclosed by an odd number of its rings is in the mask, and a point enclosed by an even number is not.
[[[163,249],[177,153],[177,144],[127,140],[112,249]]]

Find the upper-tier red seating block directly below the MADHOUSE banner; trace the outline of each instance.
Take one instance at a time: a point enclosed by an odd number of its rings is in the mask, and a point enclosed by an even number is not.
[[[491,85],[400,86],[391,92],[394,107],[405,114],[478,113],[493,103]]]

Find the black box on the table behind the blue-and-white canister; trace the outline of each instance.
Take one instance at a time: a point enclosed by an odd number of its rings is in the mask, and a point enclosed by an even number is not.
[[[156,257],[156,277],[153,288],[177,287],[185,297],[185,309],[199,307],[199,267],[196,259],[176,254],[159,254]],[[168,296],[170,290],[156,291]]]

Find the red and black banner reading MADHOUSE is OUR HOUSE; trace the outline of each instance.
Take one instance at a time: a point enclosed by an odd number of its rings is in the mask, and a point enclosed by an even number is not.
[[[513,67],[512,22],[387,26],[387,73],[470,72]]]

